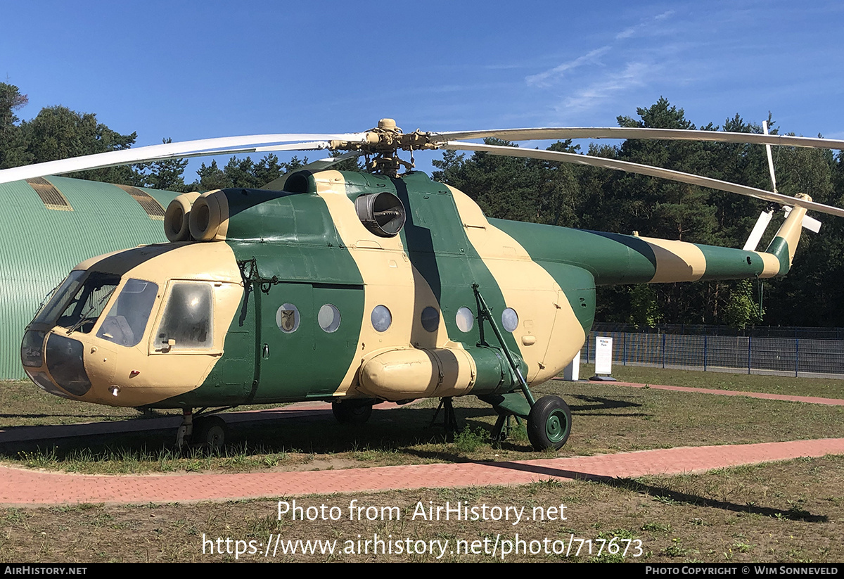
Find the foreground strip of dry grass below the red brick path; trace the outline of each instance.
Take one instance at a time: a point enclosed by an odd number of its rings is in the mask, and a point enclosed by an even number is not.
[[[355,495],[296,497],[297,506],[325,507],[325,517],[279,519],[278,501],[223,504],[0,509],[0,561],[221,561],[235,560],[235,540],[260,549],[237,560],[260,561],[633,561],[836,562],[844,560],[839,527],[844,522],[844,457],[797,459],[709,473],[615,479],[607,482],[547,481],[511,487],[403,490]],[[291,497],[281,497],[290,503]],[[349,505],[376,507],[373,520],[353,517]],[[522,519],[478,517],[439,520],[421,517],[419,505],[470,509],[493,506],[524,509]],[[565,520],[546,515],[565,505]],[[798,508],[793,508],[794,506]],[[387,517],[382,507],[398,507]],[[338,520],[328,514],[335,508]],[[538,509],[538,510],[535,510]],[[317,511],[311,511],[312,514]],[[396,511],[393,511],[395,513]],[[511,511],[512,512],[512,511]],[[560,512],[560,511],[556,511]],[[534,513],[536,516],[534,517]],[[415,514],[415,517],[414,517]],[[273,533],[273,538],[270,538]],[[336,541],[334,555],[264,556],[265,545],[280,540]],[[362,541],[376,537],[416,547],[448,541],[446,554],[361,553]],[[545,553],[575,539],[568,556]],[[223,554],[217,551],[221,538]],[[232,539],[225,553],[225,539]],[[360,538],[361,543],[358,543]],[[498,549],[492,547],[498,540]],[[486,540],[486,549],[484,549]],[[521,540],[527,553],[515,551]],[[591,540],[591,544],[588,541]],[[204,542],[203,542],[204,541]],[[210,543],[214,542],[214,553]],[[452,552],[457,541],[477,546],[475,553]],[[531,542],[534,542],[533,544]],[[351,542],[351,543],[349,543]],[[502,548],[510,544],[510,552]],[[598,549],[603,544],[603,552]],[[575,555],[577,546],[581,553]],[[610,552],[610,545],[612,550]],[[629,546],[628,553],[622,553]],[[530,548],[540,552],[529,552]],[[343,552],[344,547],[349,552]],[[393,544],[395,547],[395,543]],[[592,549],[591,553],[589,549]],[[204,553],[203,553],[204,549]],[[427,549],[427,546],[425,547]],[[634,554],[638,556],[633,556]],[[272,555],[272,551],[270,552]]]

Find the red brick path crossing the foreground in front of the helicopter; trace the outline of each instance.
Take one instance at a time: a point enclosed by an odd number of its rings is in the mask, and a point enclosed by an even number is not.
[[[0,503],[221,501],[365,490],[525,484],[542,479],[688,473],[825,454],[844,454],[844,438],[690,446],[506,463],[429,464],[296,473],[85,475],[0,467]]]

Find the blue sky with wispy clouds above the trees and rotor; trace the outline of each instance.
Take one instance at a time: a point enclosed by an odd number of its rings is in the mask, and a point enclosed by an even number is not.
[[[382,116],[405,131],[612,127],[660,96],[698,126],[771,111],[784,131],[844,138],[840,2],[34,1],[3,15],[21,118],[95,112],[136,146]]]

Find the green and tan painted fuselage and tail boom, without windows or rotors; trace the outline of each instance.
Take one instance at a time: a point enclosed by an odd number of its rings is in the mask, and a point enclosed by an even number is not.
[[[138,248],[80,264],[153,281],[160,293],[137,347],[98,344],[97,327],[78,336],[86,352],[96,351],[85,357],[93,385],[73,398],[179,408],[509,392],[516,381],[489,324],[476,319],[468,332],[457,327],[460,308],[478,316],[473,284],[499,324],[505,308],[517,312],[517,327],[504,333],[506,347],[527,381],[538,383],[581,349],[597,284],[782,275],[805,213],[792,211],[768,252],[745,252],[487,219],[463,192],[418,172],[391,179],[327,170],[295,182],[297,192],[214,192],[220,221],[214,241]],[[355,198],[382,191],[407,211],[392,238],[371,233],[355,213]],[[151,345],[178,279],[214,284],[211,350]],[[285,333],[277,315],[289,304],[299,320]],[[317,322],[326,305],[340,312],[330,333]],[[382,332],[371,322],[376,306],[392,315]],[[427,329],[426,308],[438,315]],[[109,393],[113,385],[120,386],[117,397]]]

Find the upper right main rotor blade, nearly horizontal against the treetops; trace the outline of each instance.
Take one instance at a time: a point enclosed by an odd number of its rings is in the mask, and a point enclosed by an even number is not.
[[[690,131],[675,128],[640,127],[560,127],[506,128],[490,131],[431,133],[436,142],[467,138],[501,138],[507,141],[540,141],[564,138],[642,138],[667,141],[709,141],[723,143],[772,144],[814,149],[844,149],[844,140],[833,138],[791,137],[759,133],[728,133],[726,131]]]

